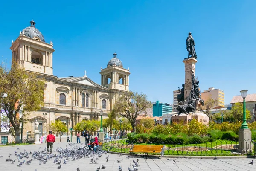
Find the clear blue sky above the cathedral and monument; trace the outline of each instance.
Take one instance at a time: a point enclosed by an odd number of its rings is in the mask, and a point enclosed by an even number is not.
[[[100,84],[113,52],[130,68],[130,89],[151,101],[173,103],[184,83],[186,37],[192,32],[201,91],[225,91],[229,104],[240,90],[256,93],[255,0],[4,1],[0,57],[11,62],[12,40],[35,20],[53,41],[53,73],[87,76]]]

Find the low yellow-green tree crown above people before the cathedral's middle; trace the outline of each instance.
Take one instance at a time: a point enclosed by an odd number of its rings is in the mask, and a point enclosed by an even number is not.
[[[86,129],[89,133],[96,131],[100,127],[100,121],[92,120],[92,121],[82,121],[77,123],[74,126],[74,130],[83,131]]]

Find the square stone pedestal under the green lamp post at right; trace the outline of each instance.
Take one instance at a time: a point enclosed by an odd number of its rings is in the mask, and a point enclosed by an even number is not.
[[[252,133],[250,129],[239,129],[238,132],[238,152],[241,154],[247,154],[252,151]]]

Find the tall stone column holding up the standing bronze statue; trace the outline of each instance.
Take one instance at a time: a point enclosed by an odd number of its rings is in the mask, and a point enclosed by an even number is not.
[[[185,90],[184,90],[184,99],[189,96],[192,86],[192,71],[195,73],[195,63],[197,60],[195,58],[185,58],[183,60],[185,64]]]

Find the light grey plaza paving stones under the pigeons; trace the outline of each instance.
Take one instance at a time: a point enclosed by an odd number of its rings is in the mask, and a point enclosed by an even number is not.
[[[68,143],[55,142],[53,145],[53,149],[57,147],[66,148]],[[81,144],[77,144],[78,146],[83,146]],[[20,150],[17,150],[17,148]],[[32,160],[30,165],[21,165],[21,167],[17,167],[19,162],[15,161],[15,164],[10,162],[6,162],[5,160],[8,158],[8,153],[14,153],[17,151],[20,153],[26,149],[26,151],[41,151],[44,150],[46,144],[41,145],[23,145],[23,146],[5,146],[0,147],[0,155],[3,157],[0,158],[0,171],[76,171],[76,168],[79,167],[81,171],[96,171],[96,169],[105,165],[106,169],[100,169],[100,171],[118,171],[119,165],[122,167],[123,171],[128,171],[128,167],[133,169],[132,160],[137,161],[139,159],[140,167],[138,167],[139,171],[256,171],[256,165],[248,165],[252,161],[252,159],[246,158],[218,158],[216,161],[212,159],[184,159],[178,158],[177,163],[173,161],[167,161],[166,157],[161,159],[156,158],[148,158],[146,161],[140,157],[131,157],[130,159],[126,158],[126,155],[122,155],[119,157],[117,154],[102,154],[102,157],[99,157],[99,163],[91,164],[91,158],[82,158],[76,161],[67,161],[67,164],[63,164],[62,167],[58,169],[58,165],[54,164],[54,158],[47,160],[46,164],[39,165],[38,160]],[[54,154],[58,154],[58,152],[54,152]],[[109,155],[109,161],[106,162],[106,157]],[[10,156],[11,159],[16,159],[17,157],[14,155]],[[31,159],[31,154],[29,155],[29,159]],[[25,159],[26,161],[29,159]],[[122,160],[118,163],[116,160]],[[23,160],[21,160],[23,161]],[[256,160],[254,161],[256,163]]]

